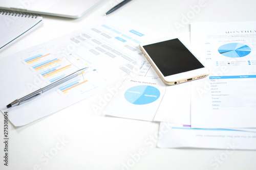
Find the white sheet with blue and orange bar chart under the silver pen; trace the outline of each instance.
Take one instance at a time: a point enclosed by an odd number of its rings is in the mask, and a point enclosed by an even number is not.
[[[17,98],[84,67],[89,69],[78,77],[9,108],[10,122],[29,124],[123,81],[141,56],[138,45],[146,35],[150,35],[147,29],[114,17],[0,59],[1,111]]]

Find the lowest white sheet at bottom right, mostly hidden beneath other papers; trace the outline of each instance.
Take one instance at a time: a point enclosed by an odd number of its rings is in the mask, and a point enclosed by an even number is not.
[[[160,123],[157,147],[256,150],[256,133]],[[229,153],[230,153],[229,152]]]

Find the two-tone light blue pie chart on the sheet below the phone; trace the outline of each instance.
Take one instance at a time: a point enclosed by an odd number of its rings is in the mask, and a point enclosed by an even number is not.
[[[155,102],[160,96],[160,91],[153,86],[140,85],[127,89],[124,93],[126,101],[135,105],[145,105]]]

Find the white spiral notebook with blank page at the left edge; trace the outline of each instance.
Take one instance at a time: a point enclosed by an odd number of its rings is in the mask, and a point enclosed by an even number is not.
[[[41,23],[38,15],[0,10],[0,51]]]

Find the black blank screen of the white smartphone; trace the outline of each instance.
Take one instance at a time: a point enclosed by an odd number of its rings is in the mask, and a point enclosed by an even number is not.
[[[204,67],[178,38],[143,47],[164,77]]]

